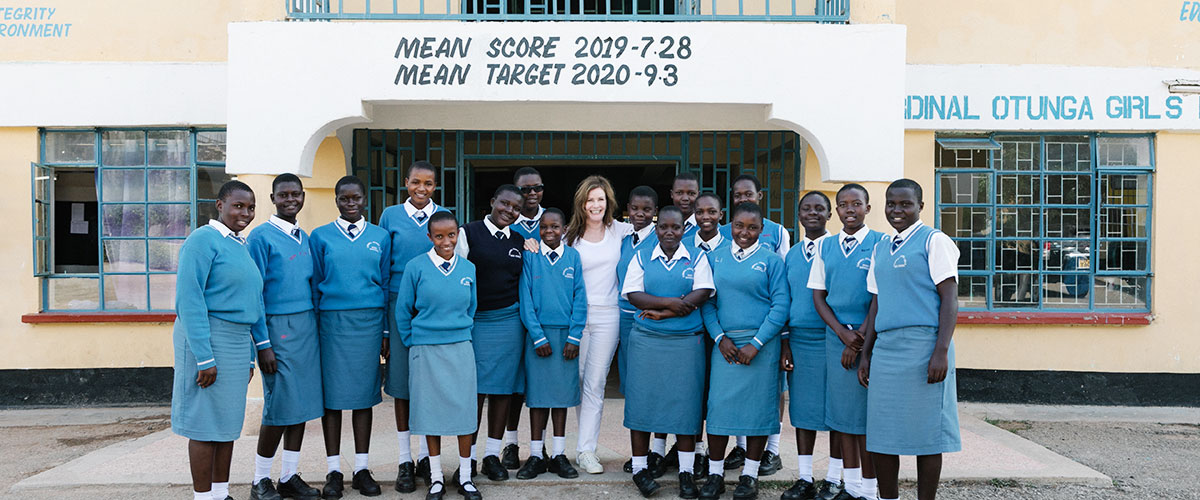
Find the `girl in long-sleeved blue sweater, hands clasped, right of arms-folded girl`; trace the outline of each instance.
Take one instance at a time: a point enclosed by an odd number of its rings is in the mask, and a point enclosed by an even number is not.
[[[725,446],[745,435],[746,456],[733,498],[758,495],[758,464],[767,436],[779,433],[779,332],[787,323],[784,259],[758,242],[762,209],[733,209],[731,240],[708,253],[720,290],[701,309],[712,354],[708,392],[709,476],[700,495],[715,499],[725,489]]]

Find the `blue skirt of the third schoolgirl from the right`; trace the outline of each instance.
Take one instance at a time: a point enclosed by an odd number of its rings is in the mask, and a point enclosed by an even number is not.
[[[824,423],[824,329],[792,329],[792,372],[787,374],[787,416],[792,427],[829,430]]]

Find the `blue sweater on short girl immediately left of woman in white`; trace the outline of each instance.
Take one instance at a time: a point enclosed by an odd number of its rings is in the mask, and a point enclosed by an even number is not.
[[[553,264],[545,253],[526,252],[521,270],[521,323],[534,348],[548,342],[544,326],[568,329],[566,342],[580,345],[588,323],[580,252],[560,245]]]

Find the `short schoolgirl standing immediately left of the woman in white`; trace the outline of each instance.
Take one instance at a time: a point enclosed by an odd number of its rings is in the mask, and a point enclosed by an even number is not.
[[[526,342],[526,404],[529,405],[529,460],[517,471],[532,480],[551,471],[578,477],[566,459],[566,409],[580,405],[580,339],[588,320],[580,252],[563,245],[566,217],[546,209],[540,224],[541,249],[526,252],[521,271],[521,321]],[[553,416],[551,454],[542,454],[546,418]]]

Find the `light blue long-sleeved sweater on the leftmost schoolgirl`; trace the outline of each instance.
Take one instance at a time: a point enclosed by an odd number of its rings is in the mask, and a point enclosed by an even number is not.
[[[179,248],[175,271],[175,315],[187,333],[199,369],[215,367],[209,315],[229,323],[253,325],[258,350],[271,347],[265,337],[263,277],[246,246],[222,236],[212,227],[202,227]],[[260,337],[262,335],[262,337]],[[254,362],[251,353],[251,363]]]

